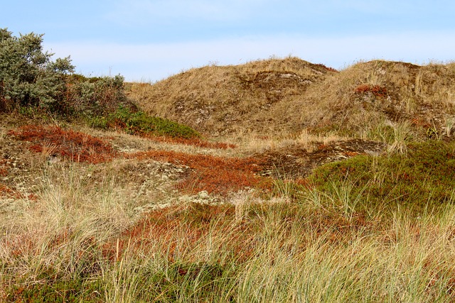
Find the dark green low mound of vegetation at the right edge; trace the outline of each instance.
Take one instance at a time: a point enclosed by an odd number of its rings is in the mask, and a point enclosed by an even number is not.
[[[346,196],[348,191],[356,197],[357,211],[375,207],[404,207],[418,213],[439,209],[453,199],[455,145],[442,141],[410,143],[407,155],[362,155],[334,162],[316,169],[310,180],[317,189],[334,197],[340,193]]]

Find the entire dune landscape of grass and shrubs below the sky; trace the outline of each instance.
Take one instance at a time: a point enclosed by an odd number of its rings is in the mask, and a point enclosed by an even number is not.
[[[1,302],[455,301],[453,65],[271,58],[125,92],[41,35],[0,46]]]

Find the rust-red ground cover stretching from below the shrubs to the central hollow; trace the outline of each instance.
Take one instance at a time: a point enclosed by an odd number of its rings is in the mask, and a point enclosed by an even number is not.
[[[8,132],[21,141],[31,142],[30,150],[41,153],[51,161],[53,158],[67,158],[74,162],[98,164],[114,158],[146,158],[190,167],[193,171],[178,184],[186,193],[208,191],[229,194],[245,187],[254,187],[265,180],[255,175],[260,170],[261,160],[255,158],[220,158],[212,155],[191,155],[167,150],[149,150],[134,154],[119,153],[112,145],[86,133],[64,130],[58,126],[21,126]],[[218,145],[215,145],[218,147]],[[204,147],[207,147],[204,145]],[[209,147],[213,147],[209,145]],[[221,147],[225,147],[221,145]],[[6,175],[6,168],[0,172]]]

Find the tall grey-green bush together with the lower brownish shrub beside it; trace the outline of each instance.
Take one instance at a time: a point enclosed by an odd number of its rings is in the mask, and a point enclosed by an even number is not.
[[[112,113],[120,105],[134,106],[124,94],[124,77],[74,75],[70,57],[51,60],[43,35],[14,37],[0,28],[0,112],[42,109],[65,116]]]

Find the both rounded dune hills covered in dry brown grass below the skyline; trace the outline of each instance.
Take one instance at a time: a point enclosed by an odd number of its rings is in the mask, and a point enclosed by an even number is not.
[[[455,64],[375,60],[340,72],[296,57],[194,68],[129,96],[149,114],[220,135],[314,131],[374,137],[406,123],[446,136],[455,121]]]

